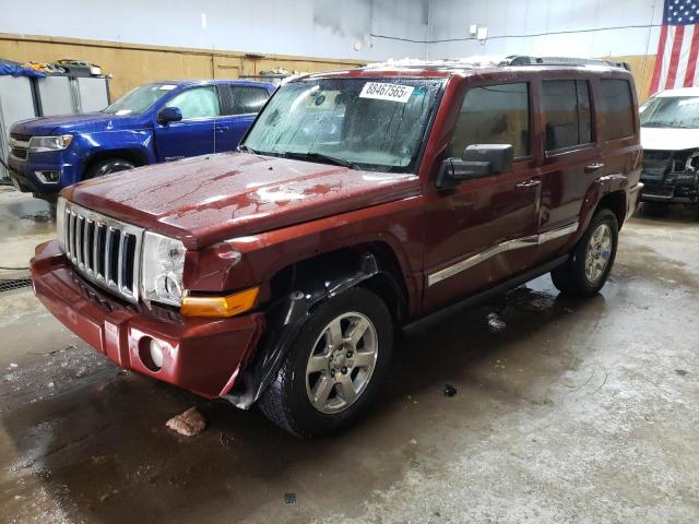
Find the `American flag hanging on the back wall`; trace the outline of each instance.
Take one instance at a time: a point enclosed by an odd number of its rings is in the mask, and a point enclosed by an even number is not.
[[[665,0],[650,94],[699,86],[699,0]]]

